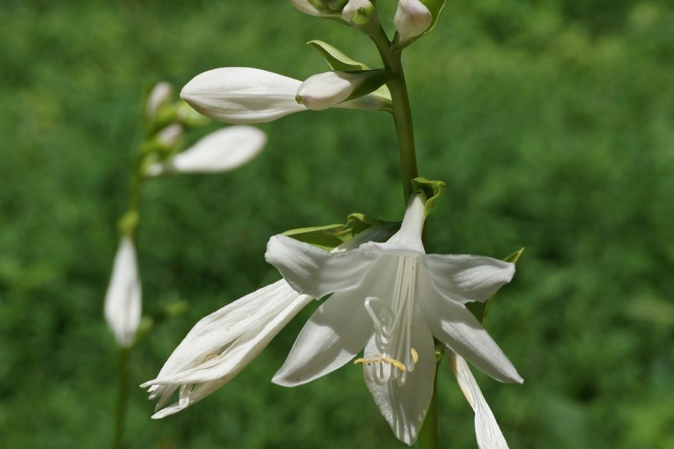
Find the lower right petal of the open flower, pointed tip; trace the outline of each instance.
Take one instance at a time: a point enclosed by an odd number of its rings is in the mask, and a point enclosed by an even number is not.
[[[522,383],[511,361],[461,303],[436,291],[423,267],[417,270],[417,300],[434,337],[501,382]]]

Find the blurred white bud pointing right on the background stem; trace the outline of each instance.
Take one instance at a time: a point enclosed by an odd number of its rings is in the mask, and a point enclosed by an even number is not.
[[[194,145],[165,162],[156,162],[146,169],[146,175],[167,172],[212,173],[241,167],[262,151],[266,134],[252,126],[229,126],[211,132]]]

